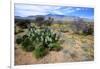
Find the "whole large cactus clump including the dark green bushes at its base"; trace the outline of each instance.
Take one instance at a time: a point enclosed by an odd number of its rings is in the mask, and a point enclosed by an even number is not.
[[[22,48],[25,51],[34,51],[35,56],[41,58],[47,50],[60,50],[59,37],[49,28],[31,27],[28,33],[22,37]]]

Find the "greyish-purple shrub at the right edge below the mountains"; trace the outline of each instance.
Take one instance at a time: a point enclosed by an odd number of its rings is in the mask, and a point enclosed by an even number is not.
[[[93,23],[85,23],[83,20],[74,21],[72,30],[76,34],[92,35],[94,32]]]

